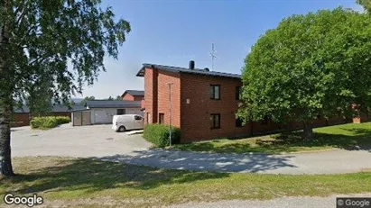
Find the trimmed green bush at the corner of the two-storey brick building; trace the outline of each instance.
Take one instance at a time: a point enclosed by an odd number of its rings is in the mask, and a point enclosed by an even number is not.
[[[144,127],[144,140],[147,140],[157,148],[164,148],[170,145],[169,126],[162,124],[146,124]],[[172,144],[181,142],[181,129],[172,127]]]

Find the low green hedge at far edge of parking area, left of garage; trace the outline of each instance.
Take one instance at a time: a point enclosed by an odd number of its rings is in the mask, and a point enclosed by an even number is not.
[[[69,123],[70,117],[67,116],[45,116],[34,117],[31,120],[32,129],[51,129],[63,123]]]

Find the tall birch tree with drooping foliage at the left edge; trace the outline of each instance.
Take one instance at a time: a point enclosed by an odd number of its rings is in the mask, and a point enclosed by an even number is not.
[[[9,125],[14,100],[47,77],[53,97],[68,104],[70,95],[106,71],[105,56],[117,59],[127,32],[130,24],[116,20],[100,0],[0,1],[1,175],[14,176]]]

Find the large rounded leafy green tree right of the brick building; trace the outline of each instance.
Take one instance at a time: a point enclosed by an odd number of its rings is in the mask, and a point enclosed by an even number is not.
[[[292,15],[266,32],[246,56],[239,116],[301,122],[313,138],[317,116],[366,108],[371,88],[371,21],[341,7]]]

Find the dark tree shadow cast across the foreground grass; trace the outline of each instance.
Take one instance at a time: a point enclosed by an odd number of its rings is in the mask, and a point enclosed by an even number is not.
[[[29,175],[0,179],[2,183],[8,182],[11,185],[31,184],[16,185],[18,188],[12,191],[18,194],[32,194],[74,190],[94,193],[111,188],[148,190],[160,185],[185,184],[227,176],[229,176],[227,173],[167,170],[79,158],[35,169]]]

